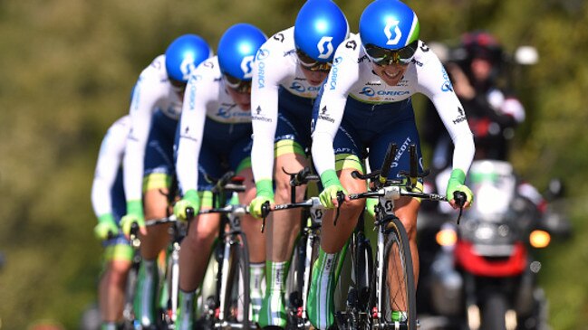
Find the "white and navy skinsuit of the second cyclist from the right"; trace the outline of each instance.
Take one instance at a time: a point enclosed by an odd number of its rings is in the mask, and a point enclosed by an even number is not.
[[[272,178],[275,142],[293,140],[303,148],[310,146],[313,99],[320,88],[304,77],[294,27],[275,33],[257,51],[251,91],[255,181]]]

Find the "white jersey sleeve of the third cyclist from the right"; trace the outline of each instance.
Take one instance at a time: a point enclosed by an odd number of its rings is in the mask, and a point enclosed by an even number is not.
[[[198,158],[207,118],[207,104],[218,95],[218,83],[202,65],[190,76],[179,122],[176,170],[182,193],[198,190]]]

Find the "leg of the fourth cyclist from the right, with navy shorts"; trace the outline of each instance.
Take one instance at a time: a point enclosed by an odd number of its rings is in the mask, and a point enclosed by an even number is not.
[[[153,118],[145,150],[145,177],[143,180],[143,209],[145,219],[168,216],[167,194],[174,173],[173,143],[178,122],[157,116]],[[147,235],[140,235],[141,265],[135,315],[144,326],[155,325],[155,306],[159,285],[159,269],[156,263],[159,252],[169,244],[169,225],[147,228]]]

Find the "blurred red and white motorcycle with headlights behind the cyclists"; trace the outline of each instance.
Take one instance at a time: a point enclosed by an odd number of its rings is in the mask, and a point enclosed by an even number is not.
[[[443,174],[437,179],[447,182]],[[541,195],[503,161],[475,161],[467,184],[474,203],[459,225],[445,222],[435,234],[431,309],[462,320],[460,329],[548,329],[547,301],[536,283],[541,262],[533,257],[551,240]]]

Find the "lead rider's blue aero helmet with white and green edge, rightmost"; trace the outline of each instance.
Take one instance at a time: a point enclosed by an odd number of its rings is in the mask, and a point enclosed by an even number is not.
[[[379,65],[408,64],[419,43],[419,19],[400,0],[376,0],[360,17],[360,38],[371,60]]]

